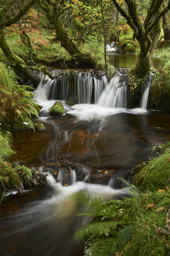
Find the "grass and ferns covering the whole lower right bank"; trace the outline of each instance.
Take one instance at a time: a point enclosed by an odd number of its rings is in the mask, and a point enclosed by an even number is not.
[[[163,256],[170,251],[170,149],[159,145],[152,150],[165,151],[133,173],[133,198],[96,199],[87,203],[87,215],[95,218],[77,238],[85,239],[85,256]]]

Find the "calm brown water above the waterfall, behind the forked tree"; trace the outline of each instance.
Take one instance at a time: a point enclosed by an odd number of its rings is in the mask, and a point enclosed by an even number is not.
[[[124,52],[108,52],[109,63],[116,68],[132,68],[136,66],[138,61],[137,54],[129,54]],[[153,57],[151,64],[154,68],[159,70],[164,66],[164,62],[167,58]]]

